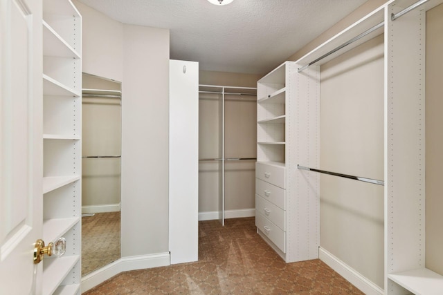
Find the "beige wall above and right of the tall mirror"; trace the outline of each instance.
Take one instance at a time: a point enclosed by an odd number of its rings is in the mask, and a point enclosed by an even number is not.
[[[169,30],[75,6],[84,72],[122,82],[122,256],[168,252]]]

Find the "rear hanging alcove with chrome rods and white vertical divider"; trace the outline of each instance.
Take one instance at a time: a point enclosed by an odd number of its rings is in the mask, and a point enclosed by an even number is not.
[[[254,216],[257,88],[199,86],[199,220]]]

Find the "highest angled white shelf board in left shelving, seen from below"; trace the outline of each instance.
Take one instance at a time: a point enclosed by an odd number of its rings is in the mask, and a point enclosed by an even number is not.
[[[77,51],[64,41],[46,21],[43,21],[43,39],[44,56],[80,59]]]

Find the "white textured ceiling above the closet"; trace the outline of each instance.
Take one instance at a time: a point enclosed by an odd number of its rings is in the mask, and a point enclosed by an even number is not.
[[[265,74],[366,0],[79,0],[122,23],[170,29],[170,58]]]

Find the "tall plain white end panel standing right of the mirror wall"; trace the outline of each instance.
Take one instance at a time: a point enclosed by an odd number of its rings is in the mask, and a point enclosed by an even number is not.
[[[169,248],[171,264],[198,260],[199,64],[170,60]]]

